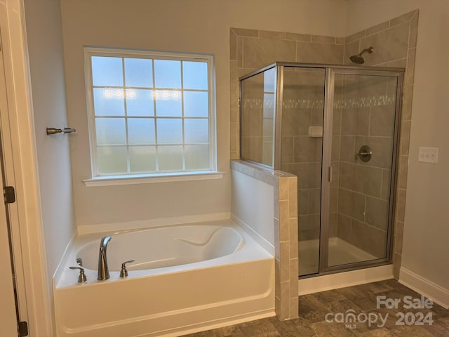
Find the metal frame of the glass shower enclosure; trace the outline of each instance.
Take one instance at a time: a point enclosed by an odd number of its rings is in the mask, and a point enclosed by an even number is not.
[[[326,65],[313,63],[297,63],[297,62],[274,62],[259,70],[255,70],[250,74],[246,74],[239,78],[240,89],[240,121],[241,121],[241,104],[242,104],[242,81],[257,74],[265,72],[269,69],[276,68],[276,82],[274,91],[274,101],[276,102],[275,123],[274,123],[274,157],[273,165],[255,163],[269,167],[274,170],[281,170],[281,150],[282,150],[282,110],[283,110],[283,85],[285,67],[296,68],[314,68],[325,70],[325,87],[324,87],[324,106],[323,106],[323,149],[321,157],[321,214],[320,214],[320,239],[319,239],[319,272],[311,275],[303,275],[300,278],[314,277],[317,275],[333,274],[335,272],[344,272],[358,270],[364,267],[375,267],[377,265],[386,265],[391,263],[393,254],[393,237],[394,237],[394,211],[396,204],[396,182],[398,169],[399,139],[401,130],[401,102],[402,102],[402,86],[405,70],[403,68],[394,67],[368,67],[368,66],[345,66],[345,65]],[[342,265],[334,265],[328,267],[328,241],[329,241],[329,213],[330,213],[330,183],[332,180],[332,136],[333,136],[333,110],[335,98],[335,75],[360,75],[360,76],[380,76],[380,77],[396,77],[396,107],[394,117],[394,134],[393,149],[391,161],[391,178],[389,193],[389,217],[387,227],[386,255],[384,258],[375,260],[364,260],[356,263],[347,263]],[[240,125],[241,126],[241,125]],[[241,153],[241,133],[240,133],[240,153]],[[251,161],[241,157],[241,159]],[[253,161],[254,162],[254,161]]]

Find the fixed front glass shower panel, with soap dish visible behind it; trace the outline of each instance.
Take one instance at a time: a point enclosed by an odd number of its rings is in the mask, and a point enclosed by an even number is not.
[[[324,68],[283,68],[281,170],[297,176],[300,276],[319,272],[324,84]]]

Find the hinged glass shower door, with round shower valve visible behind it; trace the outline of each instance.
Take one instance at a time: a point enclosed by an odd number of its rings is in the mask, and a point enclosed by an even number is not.
[[[330,71],[323,270],[389,258],[399,80],[375,71]]]

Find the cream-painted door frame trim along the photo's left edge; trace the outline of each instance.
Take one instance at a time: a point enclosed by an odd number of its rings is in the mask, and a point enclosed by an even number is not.
[[[27,317],[29,336],[48,337],[53,336],[51,282],[46,272],[23,1],[0,0],[8,103],[1,129],[6,184],[16,191],[16,202],[9,207],[21,319]]]

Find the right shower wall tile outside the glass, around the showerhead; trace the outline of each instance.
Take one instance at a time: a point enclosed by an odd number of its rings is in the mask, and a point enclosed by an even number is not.
[[[349,64],[349,55],[373,46],[372,54],[365,54],[366,65],[382,67],[404,67],[401,139],[399,143],[398,178],[396,183],[396,205],[394,217],[394,277],[398,279],[401,267],[404,214],[406,208],[408,151],[410,145],[410,123],[412,120],[413,74],[418,29],[418,11],[382,22],[344,39],[344,60]],[[382,207],[382,206],[381,206]]]

